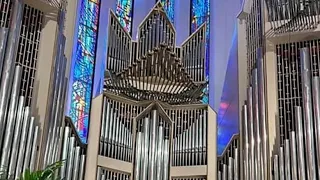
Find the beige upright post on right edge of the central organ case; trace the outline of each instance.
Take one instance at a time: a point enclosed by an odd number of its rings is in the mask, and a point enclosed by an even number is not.
[[[216,179],[217,177],[217,113],[208,106],[208,176],[207,179]]]

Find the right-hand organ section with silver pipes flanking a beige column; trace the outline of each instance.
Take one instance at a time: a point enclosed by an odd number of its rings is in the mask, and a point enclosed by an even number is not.
[[[320,178],[319,5],[253,1],[246,18],[249,78],[240,118],[243,179]],[[275,114],[268,112],[274,106]],[[228,179],[225,161],[218,179]]]

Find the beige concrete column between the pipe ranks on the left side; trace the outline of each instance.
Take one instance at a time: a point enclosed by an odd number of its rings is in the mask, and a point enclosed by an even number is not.
[[[32,115],[39,120],[40,132],[48,126],[49,116],[47,114],[50,107],[50,87],[52,87],[51,76],[54,69],[55,58],[55,41],[57,35],[57,18],[52,18],[51,14],[44,14],[43,29],[41,32],[41,39],[39,45],[37,71],[34,82],[34,98],[32,101]],[[45,133],[40,135],[41,145],[46,139]],[[38,157],[38,165],[42,163],[45,145],[40,145],[40,155]]]

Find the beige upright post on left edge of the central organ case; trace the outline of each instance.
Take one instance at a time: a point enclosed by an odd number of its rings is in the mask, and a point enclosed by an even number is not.
[[[85,180],[94,180],[97,174],[102,103],[103,94],[92,100]]]

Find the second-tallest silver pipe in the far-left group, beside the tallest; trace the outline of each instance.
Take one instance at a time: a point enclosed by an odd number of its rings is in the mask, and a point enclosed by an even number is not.
[[[12,137],[14,133],[14,126],[16,123],[15,121],[16,121],[17,106],[19,104],[21,74],[22,74],[21,66],[16,66],[15,74],[14,74],[15,76],[13,80],[12,94],[11,94],[10,104],[9,104],[9,114],[7,118],[8,122],[7,122],[7,126],[5,128],[5,133],[4,133],[4,142],[3,142],[3,148],[2,148],[0,167],[8,167],[9,165],[8,164],[9,157],[10,157],[9,154],[11,153]],[[23,102],[20,102],[20,103],[23,103]],[[21,105],[19,105],[19,107],[21,107]]]

